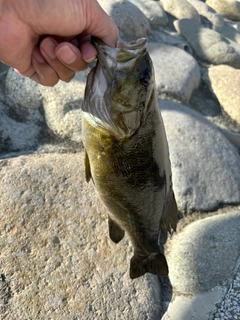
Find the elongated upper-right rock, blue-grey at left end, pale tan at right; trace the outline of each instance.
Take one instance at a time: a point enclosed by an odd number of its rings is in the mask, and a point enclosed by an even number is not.
[[[236,43],[190,19],[175,21],[174,26],[201,59],[240,69],[240,46]]]

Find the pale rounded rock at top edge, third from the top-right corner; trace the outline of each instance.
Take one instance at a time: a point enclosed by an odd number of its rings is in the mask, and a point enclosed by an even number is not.
[[[177,19],[192,19],[200,23],[200,16],[197,10],[187,0],[161,0],[165,11]]]

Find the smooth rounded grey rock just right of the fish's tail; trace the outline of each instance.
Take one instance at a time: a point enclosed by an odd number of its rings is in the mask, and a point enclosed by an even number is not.
[[[240,256],[240,211],[195,221],[168,242],[170,281],[179,293],[228,285]]]

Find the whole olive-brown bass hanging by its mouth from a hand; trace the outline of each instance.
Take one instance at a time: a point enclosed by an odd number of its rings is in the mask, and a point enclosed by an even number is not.
[[[82,106],[86,180],[107,208],[110,239],[130,237],[130,278],[167,276],[159,236],[176,230],[178,209],[147,39],[93,45]]]

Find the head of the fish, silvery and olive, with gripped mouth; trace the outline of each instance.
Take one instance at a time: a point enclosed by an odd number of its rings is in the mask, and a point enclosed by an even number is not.
[[[98,64],[90,76],[92,102],[103,126],[118,138],[130,137],[148,114],[154,70],[145,38],[119,42],[112,48],[96,39]],[[93,101],[95,99],[95,101]],[[98,102],[96,102],[98,100]],[[88,102],[87,102],[88,103]]]

